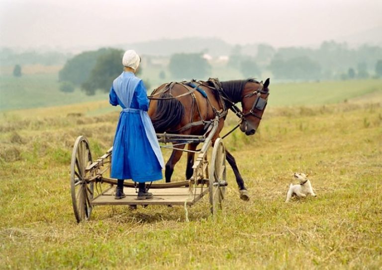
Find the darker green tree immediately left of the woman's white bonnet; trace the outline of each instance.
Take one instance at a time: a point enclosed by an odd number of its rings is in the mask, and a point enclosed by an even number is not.
[[[88,80],[81,85],[86,94],[94,95],[98,89],[105,92],[110,90],[113,80],[122,72],[122,55],[122,50],[108,49],[106,53],[98,56]]]

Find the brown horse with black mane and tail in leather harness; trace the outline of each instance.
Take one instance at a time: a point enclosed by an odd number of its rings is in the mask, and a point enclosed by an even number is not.
[[[219,82],[210,79],[207,82],[182,82],[164,84],[154,90],[149,97],[148,114],[157,133],[176,133],[183,135],[203,135],[211,123],[210,120],[219,115],[219,125],[212,139],[220,137],[224,120],[229,109],[241,118],[240,130],[246,135],[253,135],[267,105],[270,80],[265,83],[253,79]],[[242,110],[235,103],[241,102]],[[195,151],[198,143],[189,144],[188,149]],[[184,149],[185,145],[177,146]],[[173,150],[166,164],[166,182],[171,181],[175,164],[180,160],[183,151]],[[194,153],[188,152],[186,179],[193,174]],[[239,186],[240,198],[248,200],[249,195],[240,175],[234,157],[226,150],[226,160],[232,167]]]

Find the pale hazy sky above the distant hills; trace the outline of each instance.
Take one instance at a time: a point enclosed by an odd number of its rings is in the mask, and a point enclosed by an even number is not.
[[[381,14],[382,0],[0,0],[0,46],[96,47],[195,36],[314,45],[381,27]]]

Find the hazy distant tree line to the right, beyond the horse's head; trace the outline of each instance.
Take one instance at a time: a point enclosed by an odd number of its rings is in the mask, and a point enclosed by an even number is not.
[[[233,56],[246,59],[240,46],[233,49]],[[382,48],[370,45],[350,48],[346,43],[334,41],[325,41],[318,48],[275,49],[260,44],[253,60],[260,70],[270,71],[277,79],[365,79],[381,77],[378,67],[382,61]]]

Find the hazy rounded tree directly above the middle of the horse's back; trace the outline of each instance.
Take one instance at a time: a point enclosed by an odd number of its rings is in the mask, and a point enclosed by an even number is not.
[[[177,79],[196,79],[207,76],[211,66],[201,53],[174,54],[170,58],[169,70]]]

